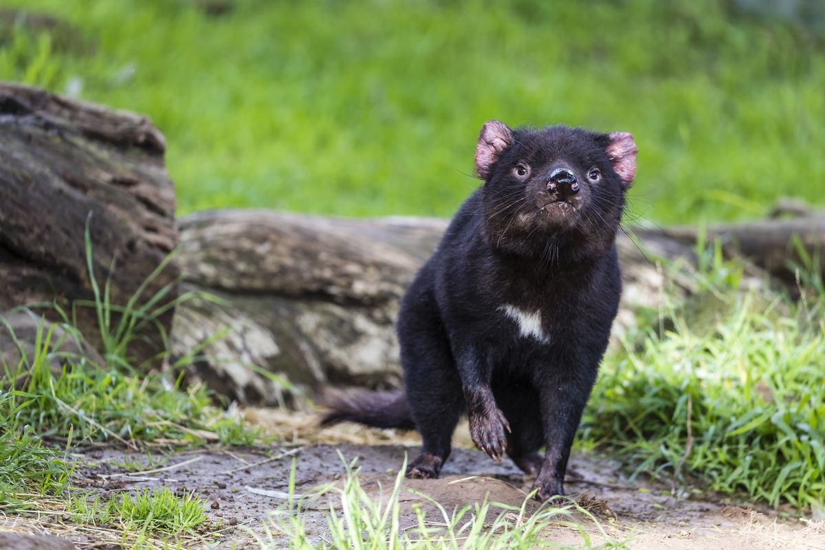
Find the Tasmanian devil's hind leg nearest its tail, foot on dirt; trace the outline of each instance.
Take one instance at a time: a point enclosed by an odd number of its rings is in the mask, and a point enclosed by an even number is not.
[[[464,394],[441,321],[429,300],[405,307],[398,321],[404,387],[421,454],[409,464],[408,477],[434,478],[450,456],[450,441],[464,410]]]

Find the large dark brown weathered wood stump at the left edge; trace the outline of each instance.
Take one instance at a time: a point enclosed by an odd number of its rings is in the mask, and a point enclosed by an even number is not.
[[[109,281],[111,303],[125,305],[177,244],[165,148],[163,135],[139,115],[0,84],[0,311],[54,302],[71,312],[73,303],[92,299],[87,225],[101,292]],[[172,261],[143,300],[178,275]],[[40,311],[60,320],[53,307]],[[75,311],[78,328],[100,349],[93,308]],[[135,364],[161,350],[158,330],[171,323],[172,310],[133,342]]]

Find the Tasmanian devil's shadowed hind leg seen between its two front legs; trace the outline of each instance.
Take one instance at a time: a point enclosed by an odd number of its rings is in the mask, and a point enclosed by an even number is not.
[[[530,477],[539,475],[544,457],[539,449],[544,444],[539,394],[526,385],[494,385],[498,407],[510,423],[507,435],[507,456]]]

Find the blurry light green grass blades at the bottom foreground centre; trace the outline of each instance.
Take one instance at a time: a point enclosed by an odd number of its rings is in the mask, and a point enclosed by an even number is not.
[[[403,487],[406,460],[393,487],[372,496],[365,491],[356,468],[356,461],[347,463],[340,485],[318,488],[311,496],[295,495],[295,461],[290,476],[287,503],[276,510],[269,522],[270,534],[261,540],[261,548],[289,550],[504,550],[506,548],[559,548],[548,537],[553,528],[576,529],[581,544],[576,548],[625,548],[613,541],[598,520],[587,510],[571,501],[563,506],[543,505],[532,513],[527,511],[532,496],[521,507],[490,503],[466,505],[460,510],[446,510],[426,495]],[[416,524],[402,524],[402,502],[409,495]],[[318,501],[328,499],[325,519],[328,534],[324,538],[310,536],[306,529],[305,510],[318,508]],[[435,516],[433,517],[433,511]],[[590,529],[588,529],[588,526]],[[606,543],[596,544],[596,538]],[[318,540],[320,539],[320,540]]]

